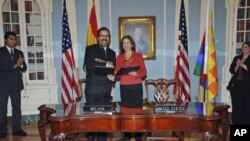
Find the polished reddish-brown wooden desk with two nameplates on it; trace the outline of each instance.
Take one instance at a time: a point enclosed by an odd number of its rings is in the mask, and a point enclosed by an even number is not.
[[[209,105],[212,105],[212,108],[208,107]],[[41,141],[46,141],[45,126],[47,124],[51,125],[49,140],[65,140],[66,135],[79,132],[159,132],[172,130],[198,131],[203,133],[206,141],[226,141],[229,129],[227,115],[229,106],[220,103],[209,105],[206,103],[187,103],[186,112],[182,114],[154,114],[152,111],[144,111],[138,115],[84,115],[82,114],[83,104],[76,103],[73,106],[76,107],[76,111],[71,116],[64,115],[63,105],[42,105],[38,108],[40,111],[38,129]],[[151,109],[152,105],[149,108]]]

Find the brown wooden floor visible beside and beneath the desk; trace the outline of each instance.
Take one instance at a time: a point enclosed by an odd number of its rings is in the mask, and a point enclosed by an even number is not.
[[[11,124],[8,124],[11,126]],[[5,139],[0,139],[0,141],[40,141],[38,129],[37,129],[37,123],[32,122],[29,124],[23,124],[22,129],[27,132],[28,136],[26,137],[13,137],[11,131],[11,128],[9,127],[9,135]],[[46,130],[47,135],[49,134],[49,128]],[[169,133],[166,133],[169,135]],[[164,134],[165,135],[165,134]],[[122,136],[121,133],[116,133],[116,137]],[[81,137],[81,136],[80,136]],[[185,141],[202,141],[202,135],[201,133],[186,133],[185,132]],[[84,141],[84,139],[74,139],[74,141]],[[134,139],[131,139],[131,141],[134,141]]]

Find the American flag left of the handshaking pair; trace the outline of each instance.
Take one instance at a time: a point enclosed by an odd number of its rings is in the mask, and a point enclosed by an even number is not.
[[[65,0],[62,18],[62,103],[67,104],[75,102],[79,93]]]

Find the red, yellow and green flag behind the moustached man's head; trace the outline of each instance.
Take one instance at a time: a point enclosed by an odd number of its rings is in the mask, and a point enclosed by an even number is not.
[[[90,9],[90,15],[89,15],[86,46],[97,43],[97,30],[98,30],[97,16],[96,16],[96,4],[95,4],[96,1],[89,0],[88,2],[90,2],[90,5],[92,5],[92,7]],[[83,70],[86,72],[85,60],[83,64]]]

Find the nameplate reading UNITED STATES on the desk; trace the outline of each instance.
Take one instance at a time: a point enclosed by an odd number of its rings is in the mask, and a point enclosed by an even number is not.
[[[186,110],[185,105],[162,104],[155,105],[155,113],[183,113]]]

